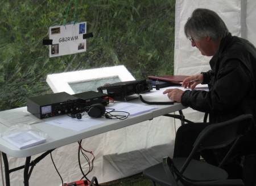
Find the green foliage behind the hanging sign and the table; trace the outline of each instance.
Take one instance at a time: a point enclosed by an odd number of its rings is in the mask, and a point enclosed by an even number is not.
[[[74,1],[73,1],[74,2]],[[49,59],[48,27],[63,24],[69,1],[0,2],[0,110],[51,93],[51,73],[125,65],[135,78],[173,73],[175,0],[81,0],[67,22],[86,21],[87,51]]]

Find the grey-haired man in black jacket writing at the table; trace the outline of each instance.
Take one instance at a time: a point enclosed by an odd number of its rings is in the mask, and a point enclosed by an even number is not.
[[[185,78],[184,88],[167,89],[171,100],[209,113],[209,123],[218,123],[244,113],[256,116],[256,49],[245,39],[232,36],[214,11],[196,9],[184,26],[185,35],[202,55],[213,56],[211,70]],[[192,81],[193,80],[193,81]],[[208,84],[209,92],[193,90],[197,84]],[[197,135],[209,123],[186,124],[177,130],[174,157],[184,157],[192,150]],[[216,162],[208,159],[208,162]],[[236,177],[236,176],[234,176]]]

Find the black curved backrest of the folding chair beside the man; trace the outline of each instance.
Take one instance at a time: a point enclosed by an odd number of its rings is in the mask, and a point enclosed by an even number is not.
[[[201,131],[199,136],[196,138],[191,154],[189,154],[187,160],[181,167],[180,172],[184,172],[196,152],[205,149],[226,147],[229,144],[232,144],[230,150],[221,162],[222,165],[224,160],[226,160],[231,154],[233,147],[236,146],[240,137],[250,131],[253,125],[253,115],[243,114],[228,121],[214,123],[205,127],[205,129]]]

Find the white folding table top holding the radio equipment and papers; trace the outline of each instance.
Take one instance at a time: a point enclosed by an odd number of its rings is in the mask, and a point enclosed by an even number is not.
[[[137,104],[143,104],[139,99],[130,101]],[[40,152],[45,152],[51,150],[53,148],[65,146],[66,144],[70,144],[73,142],[77,142],[81,139],[92,137],[97,134],[105,133],[111,130],[121,129],[122,127],[134,125],[136,123],[146,121],[149,119],[153,119],[163,114],[172,113],[174,111],[185,109],[186,107],[181,104],[174,105],[156,105],[157,109],[148,111],[143,114],[135,115],[133,117],[128,117],[124,120],[119,119],[106,119],[105,117],[98,118],[104,123],[92,126],[88,129],[81,131],[74,131],[65,129],[63,127],[57,127],[53,125],[49,125],[46,122],[40,122],[32,124],[32,127],[35,129],[39,129],[43,133],[48,135],[46,143],[42,143],[36,146],[32,146],[23,150],[20,150],[18,147],[13,146],[12,144],[6,142],[2,138],[0,138],[0,151],[5,152],[6,154],[16,157],[16,158],[25,158],[27,156],[39,154]],[[30,114],[27,112],[27,107],[5,110],[0,112],[0,118],[2,116],[9,115],[11,117],[12,114],[19,112],[19,114]],[[53,117],[55,118],[55,117]],[[0,123],[0,134],[5,133],[5,131],[9,129],[8,126]]]

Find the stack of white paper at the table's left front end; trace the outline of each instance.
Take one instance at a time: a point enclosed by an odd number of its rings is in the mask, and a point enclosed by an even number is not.
[[[40,135],[32,131],[22,131],[2,137],[7,142],[13,144],[19,149],[35,146],[36,144],[46,142],[46,138],[40,137]]]

